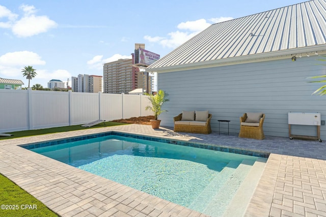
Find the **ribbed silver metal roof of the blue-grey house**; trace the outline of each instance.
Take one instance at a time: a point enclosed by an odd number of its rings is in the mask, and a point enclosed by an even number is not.
[[[212,24],[148,71],[233,57],[257,58],[257,54],[271,57],[276,51],[299,53],[311,48],[312,52],[316,46],[326,50],[325,43],[326,0],[313,0]]]

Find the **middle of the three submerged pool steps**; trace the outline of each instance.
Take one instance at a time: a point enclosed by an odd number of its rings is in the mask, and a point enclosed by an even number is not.
[[[228,180],[219,191],[216,192],[216,195],[207,204],[203,213],[211,216],[222,216],[224,207],[228,206],[231,202],[237,190],[240,188],[242,180],[247,177],[254,163],[255,161],[253,160],[243,160],[234,173],[228,177]]]

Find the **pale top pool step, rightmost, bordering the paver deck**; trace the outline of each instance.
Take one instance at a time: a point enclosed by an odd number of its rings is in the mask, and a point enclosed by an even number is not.
[[[225,209],[223,216],[243,216],[256,189],[260,176],[265,169],[266,162],[267,159],[265,158],[257,159],[232,201]]]

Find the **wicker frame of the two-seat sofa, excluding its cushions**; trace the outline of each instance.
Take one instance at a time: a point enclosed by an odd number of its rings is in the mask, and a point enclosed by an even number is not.
[[[201,134],[210,134],[212,132],[210,128],[210,119],[212,118],[211,114],[208,114],[208,118],[205,126],[197,125],[174,125],[174,132],[184,132],[184,133],[201,133]],[[180,121],[182,119],[182,113],[173,118],[175,121]],[[196,121],[194,121],[196,122]]]

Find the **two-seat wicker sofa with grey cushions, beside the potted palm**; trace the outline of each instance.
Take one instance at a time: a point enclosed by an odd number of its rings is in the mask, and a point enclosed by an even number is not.
[[[212,115],[209,114],[208,111],[196,111],[196,112],[189,111],[189,112],[182,111],[181,114],[173,118],[174,132],[200,133],[200,134],[210,134],[212,132],[210,128],[210,119]],[[192,116],[193,112],[194,114]],[[196,118],[196,113],[197,113],[197,118]],[[182,118],[182,115],[184,117],[187,116],[188,118]]]

